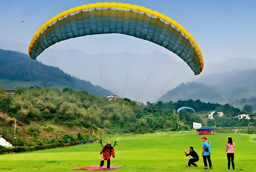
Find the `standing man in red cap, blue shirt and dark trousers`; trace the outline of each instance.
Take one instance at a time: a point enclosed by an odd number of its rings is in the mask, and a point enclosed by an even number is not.
[[[206,136],[201,137],[203,139],[203,150],[202,150],[202,156],[203,156],[203,163],[205,165],[205,169],[208,169],[207,160],[210,166],[210,169],[212,169],[212,161],[211,161],[211,143],[207,141]]]

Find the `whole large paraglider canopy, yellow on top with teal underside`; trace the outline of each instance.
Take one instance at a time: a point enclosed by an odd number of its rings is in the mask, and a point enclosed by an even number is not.
[[[198,75],[204,62],[194,38],[175,20],[152,9],[117,2],[85,4],[57,14],[33,36],[28,54],[37,58],[57,42],[94,34],[125,34],[177,54]]]

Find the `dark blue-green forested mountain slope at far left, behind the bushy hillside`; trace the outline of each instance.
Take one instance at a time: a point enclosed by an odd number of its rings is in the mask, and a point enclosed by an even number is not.
[[[13,82],[14,85],[11,84]],[[26,54],[2,49],[0,49],[0,85],[5,89],[34,85],[60,89],[70,87],[76,91],[86,90],[96,96],[112,94],[98,85],[94,86],[88,81],[70,76],[58,67],[46,66],[37,60],[32,60]]]

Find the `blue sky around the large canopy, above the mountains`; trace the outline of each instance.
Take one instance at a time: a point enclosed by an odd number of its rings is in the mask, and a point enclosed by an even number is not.
[[[16,42],[11,43],[16,46],[12,47],[12,50],[21,49],[20,51],[26,53],[32,36],[47,20],[67,9],[96,2],[100,1],[0,0],[0,15],[2,16],[0,42]],[[198,43],[203,54],[205,68],[209,64],[231,58],[256,59],[254,53],[256,1],[254,0],[123,0],[119,2],[144,6],[176,20]],[[183,62],[164,47],[120,34],[93,35],[65,40],[53,45],[51,49],[78,49],[90,55],[124,52],[145,55],[161,51],[173,60]],[[48,63],[43,58],[44,56],[40,55],[39,61],[41,59],[45,64],[58,67],[58,64]],[[99,82],[93,84],[97,85]]]

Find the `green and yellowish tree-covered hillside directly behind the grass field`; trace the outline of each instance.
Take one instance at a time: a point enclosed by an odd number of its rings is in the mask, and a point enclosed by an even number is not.
[[[200,112],[198,114],[207,115],[213,110],[224,112],[224,117],[208,120],[208,126],[238,127],[247,126],[249,122],[250,126],[256,125],[254,118],[250,121],[233,118],[241,113],[253,117],[251,106],[245,106],[241,112],[229,104],[200,100],[147,102],[143,105],[128,98],[108,100],[68,87],[62,90],[32,87],[17,89],[15,94],[5,94],[5,90],[0,89],[0,135],[13,141],[15,118],[18,145],[67,143],[72,133],[82,134],[80,141],[95,140],[109,129],[111,134],[185,131],[192,129],[193,122],[203,123],[197,113],[186,109],[179,114],[175,111],[173,115],[173,109],[183,106],[192,107]]]

